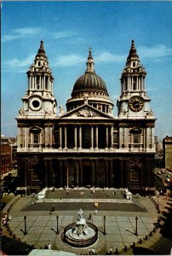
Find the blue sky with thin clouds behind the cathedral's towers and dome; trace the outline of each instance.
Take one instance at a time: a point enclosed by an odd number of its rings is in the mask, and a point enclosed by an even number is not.
[[[14,119],[27,90],[26,71],[40,40],[54,75],[54,96],[66,109],[72,87],[86,69],[89,46],[95,72],[114,102],[131,40],[146,68],[155,135],[172,136],[172,2],[3,2],[2,134],[16,136]]]

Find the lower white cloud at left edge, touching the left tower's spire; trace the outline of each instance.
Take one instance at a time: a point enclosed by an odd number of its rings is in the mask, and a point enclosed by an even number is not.
[[[35,55],[30,55],[24,60],[19,60],[17,58],[14,58],[10,61],[5,61],[3,63],[4,67],[30,67]]]

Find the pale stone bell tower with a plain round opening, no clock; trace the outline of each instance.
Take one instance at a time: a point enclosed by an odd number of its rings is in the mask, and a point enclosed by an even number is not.
[[[56,113],[56,100],[53,95],[54,77],[49,68],[49,61],[41,41],[40,48],[35,56],[34,63],[27,72],[28,89],[22,97],[23,108],[20,115],[27,118],[54,118]]]

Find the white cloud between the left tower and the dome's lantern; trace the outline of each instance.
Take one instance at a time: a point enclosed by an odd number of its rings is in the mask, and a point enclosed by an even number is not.
[[[52,63],[51,66],[72,67],[84,61],[85,61],[85,58],[83,58],[83,56],[81,55],[60,55],[58,56],[56,61],[54,61],[54,64]]]

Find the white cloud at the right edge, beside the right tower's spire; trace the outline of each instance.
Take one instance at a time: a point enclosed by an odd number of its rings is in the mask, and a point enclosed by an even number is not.
[[[143,58],[158,59],[172,55],[172,48],[163,44],[157,44],[152,47],[140,46],[138,47],[138,53]]]

